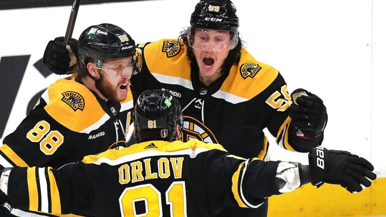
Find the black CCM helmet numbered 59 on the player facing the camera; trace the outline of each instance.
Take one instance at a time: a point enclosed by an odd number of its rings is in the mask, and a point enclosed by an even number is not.
[[[201,0],[190,17],[192,28],[236,31],[239,18],[230,0]]]

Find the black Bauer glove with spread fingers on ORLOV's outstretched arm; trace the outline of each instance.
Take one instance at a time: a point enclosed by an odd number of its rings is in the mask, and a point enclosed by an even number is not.
[[[326,182],[340,184],[351,193],[359,192],[376,178],[370,162],[347,151],[317,147],[308,154],[308,159],[311,184],[318,187]]]

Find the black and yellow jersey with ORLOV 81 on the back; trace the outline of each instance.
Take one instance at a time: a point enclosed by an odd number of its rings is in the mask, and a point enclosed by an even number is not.
[[[11,170],[14,206],[85,216],[213,216],[227,206],[258,207],[280,194],[279,162],[229,155],[221,145],[150,141],[86,156],[60,169]]]

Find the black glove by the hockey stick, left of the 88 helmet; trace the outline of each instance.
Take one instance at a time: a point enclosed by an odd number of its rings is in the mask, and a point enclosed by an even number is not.
[[[72,74],[73,66],[77,62],[78,41],[69,39],[69,50],[63,44],[64,37],[57,37],[49,41],[44,51],[43,64],[55,74]]]

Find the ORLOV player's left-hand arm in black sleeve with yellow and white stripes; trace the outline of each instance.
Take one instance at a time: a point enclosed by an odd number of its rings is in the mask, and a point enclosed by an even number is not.
[[[92,184],[80,163],[61,169],[14,167],[2,170],[0,189],[14,208],[57,214],[95,216]]]

